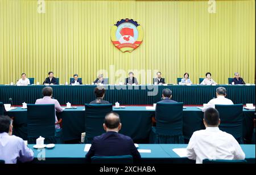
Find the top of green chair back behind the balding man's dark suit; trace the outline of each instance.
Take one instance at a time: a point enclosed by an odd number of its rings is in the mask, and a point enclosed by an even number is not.
[[[93,156],[91,158],[92,164],[132,164],[133,156]]]

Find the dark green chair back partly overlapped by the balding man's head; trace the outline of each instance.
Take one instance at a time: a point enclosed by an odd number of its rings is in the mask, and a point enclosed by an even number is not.
[[[109,112],[112,112],[112,104],[85,104],[85,140],[105,133],[102,124]]]

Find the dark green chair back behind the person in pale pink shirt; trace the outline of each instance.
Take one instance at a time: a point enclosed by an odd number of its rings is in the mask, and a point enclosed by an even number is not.
[[[55,136],[55,105],[27,104],[28,138]]]

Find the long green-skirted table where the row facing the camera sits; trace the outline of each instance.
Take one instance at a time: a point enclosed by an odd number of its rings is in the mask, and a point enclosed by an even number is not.
[[[105,100],[114,104],[119,102],[121,105],[152,105],[160,101],[163,88],[172,90],[172,99],[183,102],[185,105],[201,105],[216,97],[216,88],[225,87],[227,89],[227,98],[234,104],[255,104],[255,84],[251,86],[239,85],[141,85],[141,86],[114,86],[105,85]],[[5,86],[0,85],[0,101],[10,103],[13,100],[14,105],[22,105],[23,102],[34,104],[36,99],[42,98],[42,85],[30,86]],[[53,97],[61,105],[66,103],[83,105],[90,103],[95,99],[93,89],[94,85],[65,86],[53,85]]]

